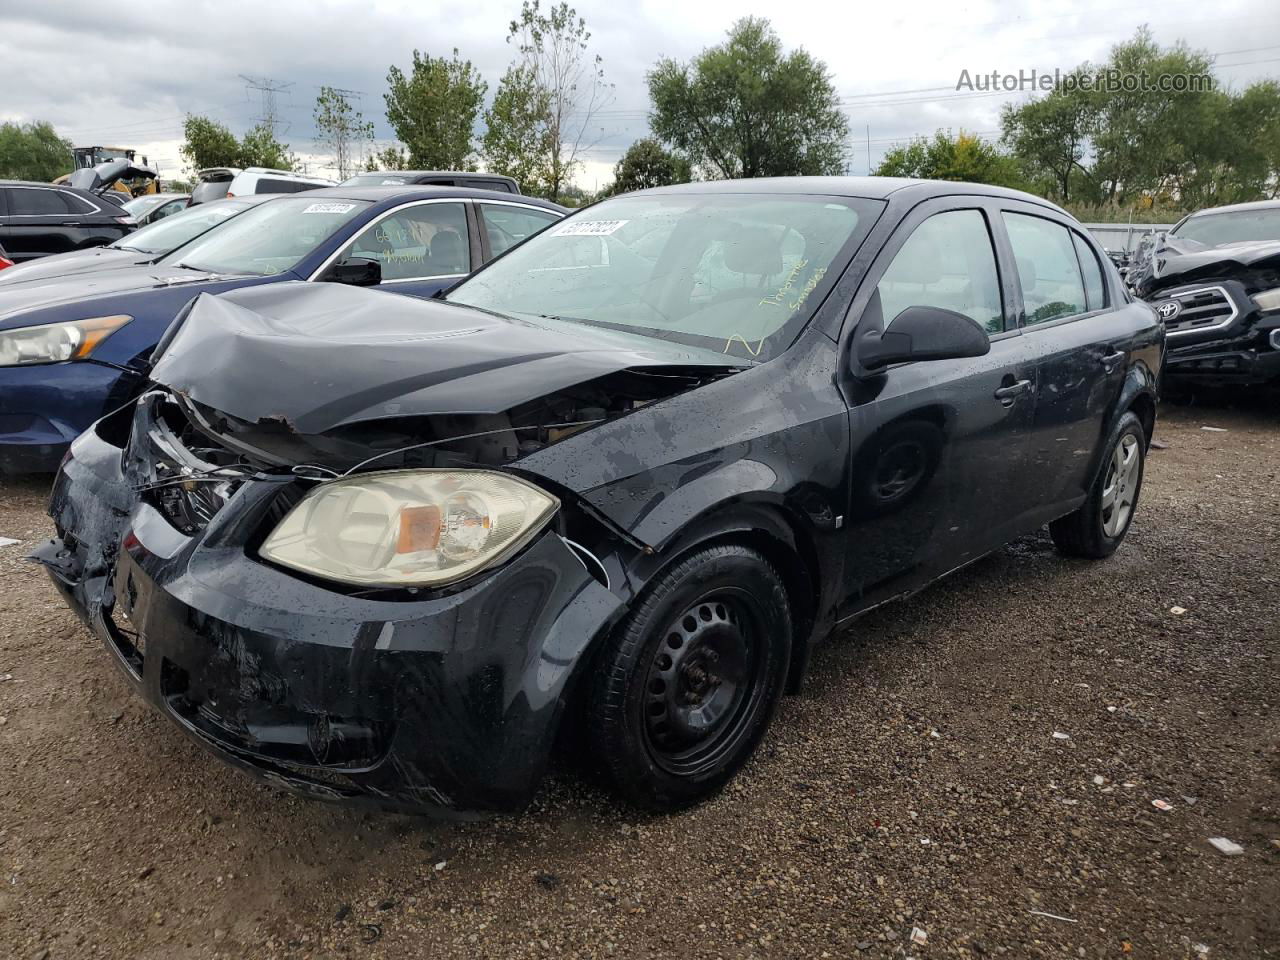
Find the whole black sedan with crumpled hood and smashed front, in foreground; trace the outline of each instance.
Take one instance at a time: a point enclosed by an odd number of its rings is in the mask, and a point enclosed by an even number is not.
[[[443,300],[197,297],[72,445],[35,558],[142,696],[274,785],[516,810],[568,754],[673,810],[833,627],[1044,524],[1114,552],[1162,355],[1024,193],[645,191]]]

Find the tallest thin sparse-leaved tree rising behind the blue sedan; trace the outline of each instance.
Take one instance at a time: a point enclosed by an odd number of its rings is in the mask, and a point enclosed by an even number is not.
[[[594,145],[596,113],[608,102],[600,58],[588,52],[590,31],[567,3],[553,4],[544,13],[539,0],[524,0],[520,17],[511,22],[507,42],[520,52],[507,70],[507,113],[517,123],[535,118],[534,143],[545,151],[544,192],[557,200],[581,165],[582,151]],[[513,74],[513,70],[516,73]],[[499,91],[500,92],[500,91]],[[502,123],[499,115],[499,124]],[[509,129],[498,140],[513,147]]]

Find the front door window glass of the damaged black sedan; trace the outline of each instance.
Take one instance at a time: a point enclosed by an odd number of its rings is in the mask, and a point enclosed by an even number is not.
[[[987,333],[1005,329],[996,252],[978,210],[934,214],[897,251],[877,288],[884,325],[908,307],[954,310]]]

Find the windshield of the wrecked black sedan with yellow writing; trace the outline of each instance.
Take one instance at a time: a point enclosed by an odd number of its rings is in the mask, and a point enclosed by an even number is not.
[[[750,193],[618,197],[516,247],[448,300],[768,360],[799,334],[882,207]]]

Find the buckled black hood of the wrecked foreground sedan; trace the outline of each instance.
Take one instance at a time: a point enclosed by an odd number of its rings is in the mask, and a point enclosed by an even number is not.
[[[499,413],[626,369],[741,369],[696,347],[332,283],[200,296],[151,379],[300,434],[388,417]]]

